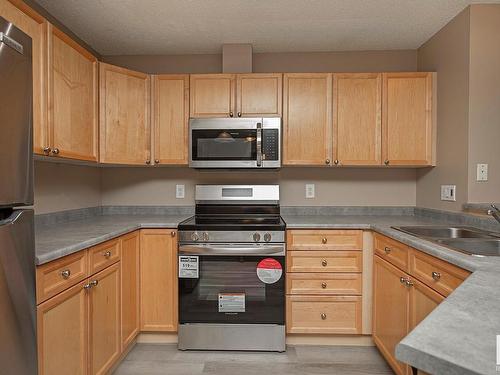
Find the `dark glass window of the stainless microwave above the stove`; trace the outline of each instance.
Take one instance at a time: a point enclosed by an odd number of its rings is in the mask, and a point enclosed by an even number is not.
[[[256,130],[193,130],[193,160],[256,160]]]

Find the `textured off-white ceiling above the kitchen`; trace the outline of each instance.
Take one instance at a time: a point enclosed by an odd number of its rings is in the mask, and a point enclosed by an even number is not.
[[[37,0],[102,55],[415,49],[500,0]]]

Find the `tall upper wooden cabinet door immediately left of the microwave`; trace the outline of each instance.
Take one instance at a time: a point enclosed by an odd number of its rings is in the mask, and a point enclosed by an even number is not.
[[[189,76],[153,76],[155,164],[187,164]]]

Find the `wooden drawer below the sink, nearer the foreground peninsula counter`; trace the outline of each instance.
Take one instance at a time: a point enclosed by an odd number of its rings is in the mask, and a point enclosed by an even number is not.
[[[410,249],[410,275],[447,297],[470,272],[421,251]]]

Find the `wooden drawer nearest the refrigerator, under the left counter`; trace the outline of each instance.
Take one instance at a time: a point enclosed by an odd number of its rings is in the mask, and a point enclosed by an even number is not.
[[[36,268],[37,303],[46,301],[87,277],[87,250]]]

